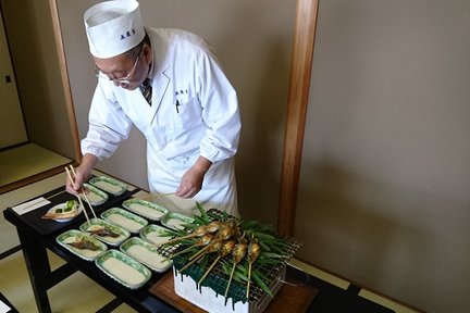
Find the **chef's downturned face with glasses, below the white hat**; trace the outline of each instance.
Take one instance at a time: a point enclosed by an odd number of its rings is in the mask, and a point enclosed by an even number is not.
[[[151,64],[150,47],[146,43],[113,58],[94,59],[97,67],[95,72],[99,78],[112,80],[115,86],[127,90],[141,85]]]

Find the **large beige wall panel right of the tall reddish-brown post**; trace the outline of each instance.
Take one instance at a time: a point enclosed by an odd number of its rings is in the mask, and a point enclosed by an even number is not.
[[[299,255],[428,312],[470,312],[469,16],[320,3]]]

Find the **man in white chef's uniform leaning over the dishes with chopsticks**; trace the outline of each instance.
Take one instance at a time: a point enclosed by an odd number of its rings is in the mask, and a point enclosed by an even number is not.
[[[134,124],[147,140],[152,193],[174,192],[238,215],[237,95],[208,43],[181,29],[145,27],[135,0],[98,3],[84,22],[98,85],[67,191],[79,190]]]

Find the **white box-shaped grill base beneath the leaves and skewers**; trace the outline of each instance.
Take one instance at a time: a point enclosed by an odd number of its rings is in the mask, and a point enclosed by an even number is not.
[[[177,296],[191,302],[208,312],[217,313],[260,313],[263,312],[268,304],[273,299],[271,296],[263,293],[263,296],[257,302],[243,302],[238,301],[235,304],[232,298],[225,304],[225,297],[218,295],[213,289],[202,286],[199,290],[196,281],[187,275],[177,273],[173,267],[174,288]],[[271,292],[273,296],[281,288],[285,278],[285,266],[279,274],[277,278],[271,286]]]

